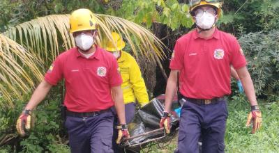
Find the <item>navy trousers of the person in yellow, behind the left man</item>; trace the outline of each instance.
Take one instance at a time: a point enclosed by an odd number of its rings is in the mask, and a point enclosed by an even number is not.
[[[130,123],[133,120],[134,116],[135,116],[135,102],[130,102],[128,104],[125,104],[126,124]],[[117,124],[118,124],[118,118],[115,113],[114,126],[116,126]],[[113,140],[112,140],[112,145],[113,145],[112,148],[114,150],[114,153],[125,152],[123,150],[123,148],[119,147],[115,142],[117,135],[118,135],[118,129],[114,129],[114,136],[113,136]]]

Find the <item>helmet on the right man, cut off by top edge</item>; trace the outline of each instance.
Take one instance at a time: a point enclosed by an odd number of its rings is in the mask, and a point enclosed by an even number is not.
[[[193,15],[193,10],[199,6],[213,6],[217,9],[217,15],[221,15],[221,3],[220,0],[190,0],[190,14]]]

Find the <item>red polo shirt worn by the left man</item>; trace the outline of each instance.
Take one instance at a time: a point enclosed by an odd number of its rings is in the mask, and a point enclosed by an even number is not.
[[[45,81],[56,85],[62,78],[66,83],[64,104],[75,112],[110,108],[114,105],[111,88],[122,83],[114,56],[97,46],[88,59],[76,47],[57,56],[45,74]]]

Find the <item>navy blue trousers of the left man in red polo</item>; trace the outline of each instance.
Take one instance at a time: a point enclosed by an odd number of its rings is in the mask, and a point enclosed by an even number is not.
[[[114,115],[111,111],[89,118],[66,117],[70,152],[110,153]]]

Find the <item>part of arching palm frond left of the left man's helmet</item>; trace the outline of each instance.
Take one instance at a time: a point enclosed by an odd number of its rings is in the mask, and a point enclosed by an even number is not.
[[[68,15],[38,17],[3,34],[26,47],[29,52],[33,51],[33,55],[49,65],[59,55],[61,44],[63,49],[70,49],[74,45],[73,38],[68,39],[68,22]]]

